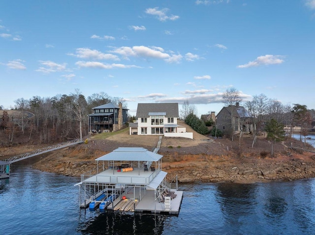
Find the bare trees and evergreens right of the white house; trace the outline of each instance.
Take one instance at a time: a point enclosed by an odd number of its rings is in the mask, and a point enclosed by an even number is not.
[[[241,103],[243,99],[240,96],[240,92],[232,87],[227,89],[222,94],[222,103],[225,106],[236,105]],[[305,136],[308,135],[309,131],[312,130],[315,126],[315,110],[309,110],[304,104],[282,104],[276,99],[270,99],[264,94],[254,95],[252,100],[247,101],[243,106],[248,110],[252,119],[252,136],[253,144],[256,141],[256,137],[263,131],[267,133],[267,139],[271,140],[272,149],[273,143],[275,141],[284,140],[285,134],[287,135],[288,140],[292,138],[293,128],[298,126],[300,128],[300,140],[306,142]],[[230,120],[231,120],[231,130],[234,132],[233,122],[235,113],[233,109],[230,109]],[[210,111],[208,114],[211,113]],[[201,134],[208,134],[209,131],[206,128],[206,123],[197,117],[196,107],[193,104],[189,104],[186,101],[182,105],[181,116],[185,122],[191,126],[195,131]],[[246,120],[246,119],[244,119]],[[212,131],[210,134],[212,136],[220,137],[223,133],[220,130],[217,130],[215,125],[215,120],[210,120],[210,123],[213,125]],[[240,125],[242,126],[242,119]],[[287,131],[284,131],[286,127]],[[242,128],[238,133],[239,136],[239,145],[241,145],[242,139]],[[234,134],[230,135],[231,140],[234,140]],[[273,155],[273,150],[272,150]]]

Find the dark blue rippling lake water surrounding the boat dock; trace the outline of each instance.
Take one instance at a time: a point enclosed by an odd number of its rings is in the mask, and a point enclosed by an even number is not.
[[[315,179],[181,184],[179,216],[79,209],[79,178],[12,166],[0,180],[3,235],[314,235]]]

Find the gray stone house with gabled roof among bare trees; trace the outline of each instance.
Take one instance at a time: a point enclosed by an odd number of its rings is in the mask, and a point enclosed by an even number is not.
[[[237,134],[240,131],[250,133],[253,130],[253,119],[248,110],[236,103],[221,109],[217,115],[216,126],[226,135]]]

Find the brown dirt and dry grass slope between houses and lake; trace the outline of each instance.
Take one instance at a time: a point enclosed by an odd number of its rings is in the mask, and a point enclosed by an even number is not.
[[[180,125],[185,126],[184,123]],[[188,126],[186,126],[189,129]],[[192,131],[192,130],[188,130]],[[171,181],[177,175],[180,183],[231,182],[255,183],[292,181],[315,178],[315,154],[292,152],[288,156],[285,143],[275,146],[275,157],[268,157],[270,143],[261,139],[252,148],[252,138],[211,139],[194,132],[194,139],[162,138],[159,154],[163,155],[162,170]],[[96,172],[95,158],[118,147],[143,147],[152,151],[158,136],[129,135],[128,130],[104,137],[89,136],[87,144],[80,144],[38,157],[34,169],[65,176],[80,176]],[[302,144],[297,141],[294,144]],[[302,146],[303,147],[303,146]],[[7,156],[30,152],[38,146],[0,148],[1,159]]]

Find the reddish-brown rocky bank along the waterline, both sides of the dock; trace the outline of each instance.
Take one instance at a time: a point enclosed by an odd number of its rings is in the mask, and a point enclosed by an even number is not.
[[[95,158],[90,160],[70,158],[47,156],[34,163],[32,167],[65,176],[95,174]],[[162,169],[168,173],[167,179],[172,180],[177,175],[180,183],[254,183],[315,178],[314,154],[263,159],[204,155],[182,155],[181,161],[167,160],[173,156],[164,158],[166,161],[162,163]]]

